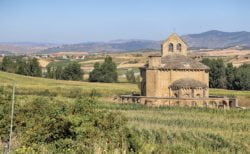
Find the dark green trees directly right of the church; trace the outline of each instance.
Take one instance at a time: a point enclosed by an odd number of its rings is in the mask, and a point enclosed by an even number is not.
[[[232,63],[224,64],[222,59],[203,59],[210,67],[209,86],[232,90],[250,90],[250,64],[236,68]]]

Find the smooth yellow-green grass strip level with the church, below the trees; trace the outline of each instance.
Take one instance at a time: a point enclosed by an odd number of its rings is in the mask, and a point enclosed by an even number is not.
[[[139,89],[136,84],[129,83],[91,83],[81,81],[63,81],[53,80],[38,77],[29,77],[13,73],[6,73],[0,71],[0,84],[12,85],[16,83],[19,88],[31,88],[32,90],[54,90],[57,88],[62,89],[74,89],[80,88],[82,90],[101,90],[106,92],[114,92],[119,94],[120,91],[132,92]],[[250,91],[236,91],[236,90],[224,90],[224,89],[210,89],[211,95],[225,95],[225,96],[246,96],[250,97]]]

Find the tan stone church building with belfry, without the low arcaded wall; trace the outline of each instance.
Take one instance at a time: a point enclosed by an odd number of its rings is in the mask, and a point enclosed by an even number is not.
[[[208,97],[208,70],[187,56],[187,45],[172,34],[162,44],[161,55],[149,57],[141,68],[141,95],[171,98]]]

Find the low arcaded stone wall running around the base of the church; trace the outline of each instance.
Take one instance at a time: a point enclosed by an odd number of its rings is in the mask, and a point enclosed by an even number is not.
[[[121,95],[122,103],[140,103],[149,106],[190,106],[209,108],[234,108],[238,107],[236,98],[210,96],[208,98],[168,98]]]

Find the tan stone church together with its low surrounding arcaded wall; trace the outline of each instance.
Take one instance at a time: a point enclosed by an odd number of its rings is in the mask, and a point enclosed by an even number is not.
[[[121,95],[122,102],[153,106],[237,107],[235,98],[209,96],[209,68],[188,57],[186,43],[170,35],[161,54],[151,55],[141,73],[141,94]]]

